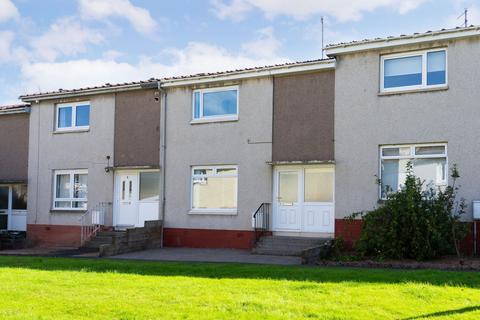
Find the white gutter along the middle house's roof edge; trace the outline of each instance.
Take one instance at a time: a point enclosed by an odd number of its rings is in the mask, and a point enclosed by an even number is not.
[[[231,73],[219,73],[212,75],[201,75],[197,77],[188,77],[185,79],[164,79],[162,81],[163,88],[186,86],[193,84],[210,83],[217,81],[235,81],[248,78],[261,78],[277,75],[288,75],[291,73],[311,72],[318,70],[334,69],[335,60],[315,61],[312,63],[302,65],[286,65],[272,68],[258,69],[258,70],[245,70]]]

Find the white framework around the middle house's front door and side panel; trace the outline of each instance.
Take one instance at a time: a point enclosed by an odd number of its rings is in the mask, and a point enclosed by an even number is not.
[[[333,173],[333,185],[332,185],[332,195],[333,202],[305,202],[305,169],[315,169],[315,168],[329,168]],[[299,210],[300,210],[300,226],[298,229],[278,229],[276,228],[276,217],[277,217],[277,193],[278,193],[278,173],[280,171],[297,171],[298,172],[298,201],[299,201]],[[273,167],[273,192],[272,192],[272,231],[274,232],[295,232],[295,233],[318,233],[315,231],[305,231],[304,230],[304,207],[305,205],[331,205],[333,209],[333,223],[332,223],[332,233],[335,233],[335,165],[334,164],[290,164],[290,165],[275,165]]]

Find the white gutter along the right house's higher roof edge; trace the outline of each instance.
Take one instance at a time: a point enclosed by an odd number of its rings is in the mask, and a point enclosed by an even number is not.
[[[460,39],[466,37],[480,36],[480,27],[470,27],[467,29],[450,29],[444,31],[436,31],[429,33],[414,34],[410,36],[394,37],[387,39],[378,39],[370,41],[359,41],[354,43],[345,43],[329,46],[325,49],[327,56],[334,57],[337,55],[368,51],[375,49],[390,48],[402,45],[412,45],[417,43],[425,43],[432,41]]]

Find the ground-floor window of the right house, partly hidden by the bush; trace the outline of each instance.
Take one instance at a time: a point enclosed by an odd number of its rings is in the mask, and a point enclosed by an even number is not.
[[[424,189],[445,187],[448,180],[447,144],[386,145],[380,147],[380,198],[398,191],[405,183],[407,163],[424,181]]]

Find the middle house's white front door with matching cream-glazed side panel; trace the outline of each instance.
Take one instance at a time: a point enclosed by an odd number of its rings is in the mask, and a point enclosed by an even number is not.
[[[277,167],[274,231],[334,233],[334,167]]]

